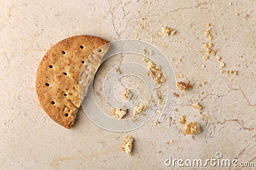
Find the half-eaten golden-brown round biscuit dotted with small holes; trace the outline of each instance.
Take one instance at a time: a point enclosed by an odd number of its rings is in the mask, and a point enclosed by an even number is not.
[[[106,43],[95,36],[73,36],[52,46],[40,61],[36,73],[38,100],[47,115],[63,127],[70,129],[80,106],[81,67],[93,51]]]

